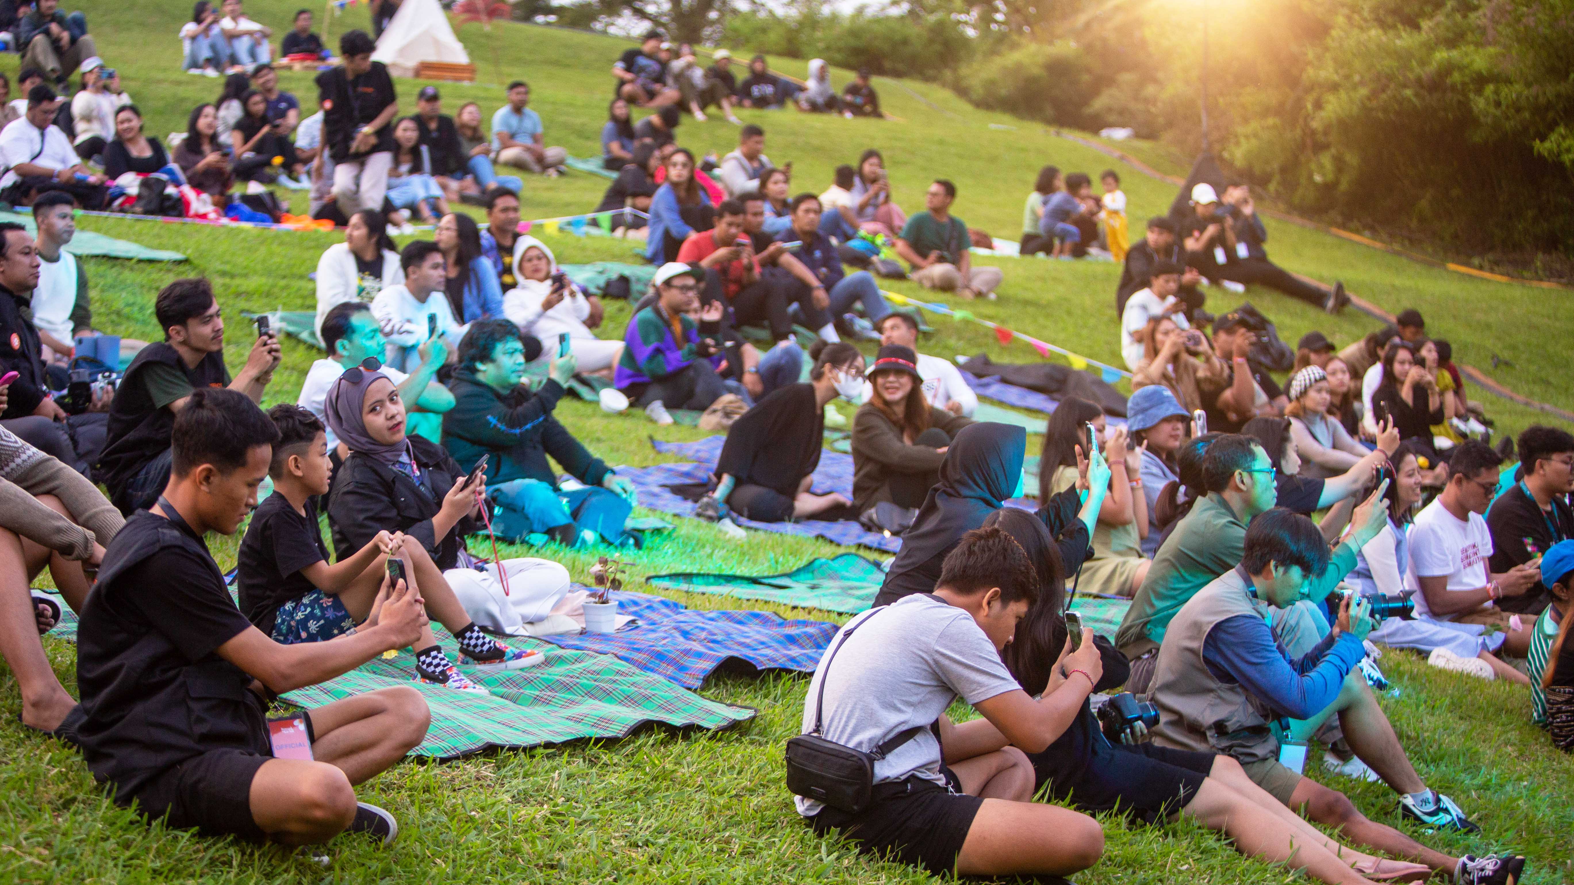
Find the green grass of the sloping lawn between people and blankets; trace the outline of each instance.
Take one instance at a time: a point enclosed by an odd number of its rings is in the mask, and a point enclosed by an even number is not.
[[[252,0],[249,11],[275,27],[288,20],[293,3]],[[161,137],[184,128],[187,110],[212,101],[217,80],[178,71],[175,31],[181,11],[143,3],[83,5],[102,55],[123,71],[127,91]],[[329,41],[345,27],[365,27],[365,11],[353,6],[332,24]],[[467,99],[490,113],[501,101],[501,83],[523,77],[534,87],[535,107],[545,117],[549,143],[576,156],[597,151],[597,134],[609,96],[606,69],[623,44],[603,36],[554,28],[502,24],[458,28],[480,68],[485,85],[441,83],[452,112]],[[501,60],[501,63],[499,63]],[[781,71],[798,72],[801,61],[776,60]],[[0,60],[14,76],[16,57]],[[836,72],[841,83],[845,72]],[[312,102],[309,74],[282,74],[285,88]],[[416,83],[400,82],[406,109]],[[1042,126],[998,113],[984,113],[929,83],[878,83],[885,106],[900,120],[847,121],[792,112],[741,112],[768,131],[767,151],[778,162],[793,161],[798,189],[822,191],[831,170],[853,162],[858,151],[885,151],[899,203],[916,209],[935,176],[960,189],[957,214],[973,227],[1015,236],[1022,200],[1039,165],[1097,173],[1111,161]],[[908,91],[911,90],[911,93]],[[914,98],[916,93],[919,98]],[[938,107],[938,110],[937,110]],[[992,129],[990,124],[1011,126]],[[713,120],[686,120],[680,140],[697,153],[726,153],[737,129]],[[1155,161],[1157,162],[1157,161]],[[1184,173],[1184,161],[1162,165]],[[1168,206],[1173,187],[1135,170],[1122,170],[1132,217]],[[568,175],[556,181],[532,178],[524,194],[526,217],[584,213],[604,180]],[[153,298],[165,282],[192,274],[209,276],[228,312],[274,307],[310,309],[307,274],[335,236],[257,230],[214,230],[134,220],[82,219],[90,230],[123,236],[153,247],[190,255],[187,265],[143,265],[88,260],[94,287],[96,323],[134,337],[157,334]],[[1435,271],[1288,224],[1270,224],[1272,255],[1286,268],[1319,279],[1343,279],[1357,294],[1390,312],[1421,309],[1434,334],[1454,342],[1464,362],[1489,370],[1491,354],[1514,362],[1492,375],[1527,395],[1574,408],[1566,384],[1566,348],[1539,342],[1568,340],[1571,323],[1560,310],[1566,293],[1491,283]],[[560,260],[620,260],[630,246],[611,239],[551,238]],[[988,261],[995,263],[995,261]],[[1089,357],[1118,364],[1113,288],[1119,268],[1097,263],[999,260],[1006,272],[999,299],[971,304],[979,317],[998,320]],[[919,294],[911,283],[892,290]],[[1289,298],[1253,290],[1250,299],[1280,324],[1286,340],[1313,328],[1336,342],[1349,342],[1374,323],[1354,312],[1328,318]],[[1215,307],[1234,299],[1214,294]],[[628,307],[614,304],[608,326],[620,329]],[[1025,345],[1001,346],[981,326],[932,320],[937,334],[922,343],[929,353],[952,356],[985,351],[995,359],[1034,359]],[[1520,332],[1532,328],[1535,339]],[[244,339],[242,332],[236,339]],[[231,368],[241,351],[230,353]],[[299,391],[313,353],[285,342],[285,365],[264,403],[290,402]],[[1532,409],[1492,398],[1480,389],[1489,413],[1503,430],[1539,420]],[[611,463],[648,465],[663,460],[647,436],[694,439],[689,428],[655,428],[642,417],[611,417],[597,408],[565,402],[560,417]],[[1031,442],[1036,446],[1037,442]],[[711,528],[677,520],[678,528],[648,546],[634,565],[644,576],[669,570],[740,570],[770,573],[792,568],[812,556],[829,556],[834,545],[751,532],[733,543]],[[235,539],[214,539],[220,564],[235,561]],[[519,551],[515,551],[519,553]],[[576,578],[584,580],[590,557],[559,551]],[[867,551],[866,551],[867,553]],[[46,578],[47,581],[47,578]],[[765,603],[741,603],[707,595],[669,594],[702,608],[765,608],[787,616],[839,620],[826,613],[804,613]],[[61,680],[72,687],[74,649],[49,641]],[[1418,658],[1390,654],[1384,668],[1401,687],[1385,701],[1410,757],[1429,784],[1451,794],[1483,825],[1480,838],[1424,836],[1451,852],[1517,849],[1533,857],[1527,882],[1574,879],[1569,866],[1574,833],[1574,761],[1550,750],[1543,732],[1528,724],[1522,690],[1453,677]],[[812,838],[798,822],[781,783],[781,746],[796,732],[803,704],[801,679],[740,679],[719,676],[707,696],[760,710],[752,726],[726,734],[642,732],[612,743],[578,743],[529,753],[501,753],[449,765],[409,762],[364,787],[368,800],[389,806],[405,835],[389,850],[354,841],[327,849],[329,866],[305,852],[250,847],[227,839],[197,839],[148,828],[107,803],[93,787],[80,759],[60,745],[27,734],[16,724],[19,696],[9,672],[0,669],[0,879],[8,882],[922,882],[929,877],[894,865],[872,863],[848,847]],[[1384,787],[1341,781],[1369,816],[1398,825],[1393,795]],[[1129,827],[1105,820],[1108,847],[1103,861],[1081,882],[1281,882],[1284,871],[1242,860],[1225,841],[1190,824]]]

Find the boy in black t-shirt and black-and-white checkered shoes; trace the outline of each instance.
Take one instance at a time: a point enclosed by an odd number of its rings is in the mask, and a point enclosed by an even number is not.
[[[546,660],[541,652],[510,649],[482,633],[427,551],[419,543],[406,545],[403,532],[378,532],[354,556],[329,565],[313,502],[327,494],[332,479],[323,422],[288,403],[274,406],[268,416],[279,428],[268,468],[274,493],[252,515],[236,557],[241,611],[258,630],[290,646],[335,639],[376,625],[387,557],[397,556],[420,587],[431,617],[458,639],[464,663],[502,671]],[[431,627],[422,627],[414,649],[420,682],[485,693],[453,666]]]

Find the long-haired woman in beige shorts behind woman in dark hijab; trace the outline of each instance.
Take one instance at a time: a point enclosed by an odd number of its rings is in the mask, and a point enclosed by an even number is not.
[[[1110,494],[1099,510],[1092,557],[1083,562],[1077,587],[1080,592],[1133,597],[1152,561],[1143,556],[1143,537],[1147,535],[1149,523],[1147,496],[1140,474],[1141,450],[1129,446],[1125,428],[1108,431],[1103,409],[1088,400],[1061,400],[1044,430],[1039,501],[1077,487],[1077,450],[1088,449],[1089,424],[1110,465]]]

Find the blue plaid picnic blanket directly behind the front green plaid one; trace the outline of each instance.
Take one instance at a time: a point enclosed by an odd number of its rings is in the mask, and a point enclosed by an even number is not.
[[[615,591],[612,600],[619,614],[630,614],[637,622],[617,633],[567,633],[543,639],[565,649],[615,655],[685,688],[699,688],[721,666],[814,672],[837,628],[825,620],[787,620],[770,611],[691,609],[634,591]]]

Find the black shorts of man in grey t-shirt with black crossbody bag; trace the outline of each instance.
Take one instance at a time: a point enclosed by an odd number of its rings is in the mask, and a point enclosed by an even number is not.
[[[826,806],[804,820],[818,836],[836,830],[856,841],[864,854],[948,876],[955,871],[981,805],[984,800],[976,795],[951,792],[913,775],[877,784],[874,802],[859,814]]]

